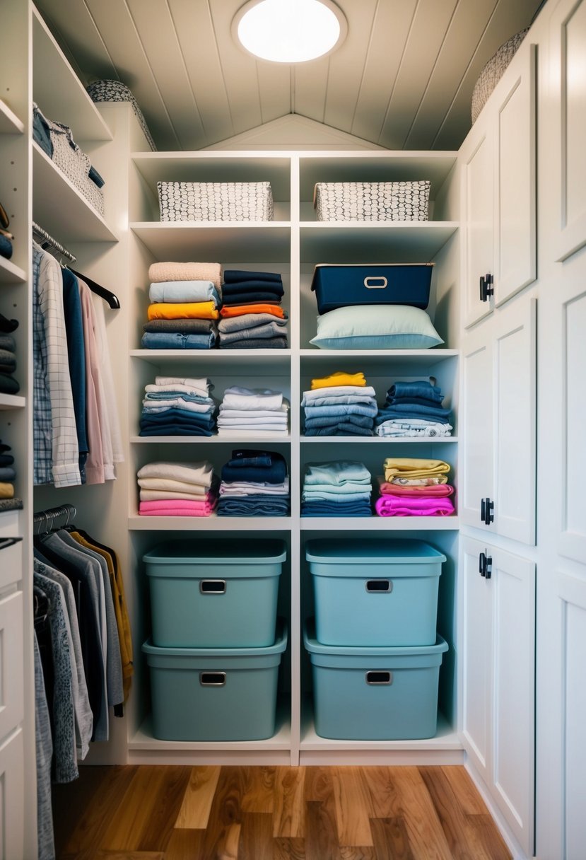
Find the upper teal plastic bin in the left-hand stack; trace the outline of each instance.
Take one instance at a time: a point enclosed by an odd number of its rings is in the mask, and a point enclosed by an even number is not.
[[[168,541],[143,556],[159,648],[266,648],[275,641],[282,540]]]

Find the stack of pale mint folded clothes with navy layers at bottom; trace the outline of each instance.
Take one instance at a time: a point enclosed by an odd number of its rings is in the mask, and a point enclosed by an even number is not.
[[[303,480],[302,517],[369,517],[372,483],[362,463],[309,464]]]

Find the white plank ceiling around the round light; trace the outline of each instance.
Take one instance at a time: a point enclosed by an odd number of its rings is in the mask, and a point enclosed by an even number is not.
[[[486,60],[541,0],[337,0],[343,46],[255,61],[230,24],[244,0],[38,0],[84,83],[126,83],[160,150],[198,150],[301,114],[393,150],[457,149]]]

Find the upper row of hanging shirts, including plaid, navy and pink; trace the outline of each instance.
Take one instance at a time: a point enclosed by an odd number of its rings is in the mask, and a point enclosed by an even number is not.
[[[33,230],[75,261],[39,224]],[[113,480],[124,458],[101,302],[35,242],[33,279],[34,484]]]

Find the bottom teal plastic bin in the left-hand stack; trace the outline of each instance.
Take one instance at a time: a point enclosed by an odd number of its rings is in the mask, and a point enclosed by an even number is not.
[[[269,648],[156,648],[150,669],[153,734],[160,740],[265,740],[275,734],[284,624]]]

